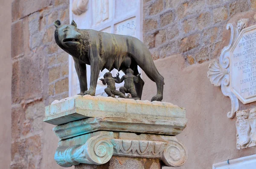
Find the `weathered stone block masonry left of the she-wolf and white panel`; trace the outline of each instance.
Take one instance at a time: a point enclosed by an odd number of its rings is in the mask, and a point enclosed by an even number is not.
[[[68,96],[68,54],[55,44],[55,20],[69,22],[69,0],[12,1],[11,169],[42,168],[44,107]]]

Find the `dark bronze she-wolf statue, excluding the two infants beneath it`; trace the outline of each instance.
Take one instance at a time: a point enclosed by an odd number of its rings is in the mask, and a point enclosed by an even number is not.
[[[163,76],[157,71],[148,48],[131,36],[108,34],[91,29],[78,29],[74,20],[71,25],[54,23],[55,41],[60,48],[73,56],[80,84],[80,95],[95,96],[99,70],[114,68],[125,72],[131,68],[137,76],[138,66],[157,85],[157,95],[151,101],[163,99]],[[90,65],[90,88],[87,90],[86,64]],[[137,97],[141,99],[144,81],[134,84]]]

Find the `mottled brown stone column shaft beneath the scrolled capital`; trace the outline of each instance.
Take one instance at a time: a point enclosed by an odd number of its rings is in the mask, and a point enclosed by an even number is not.
[[[156,158],[132,158],[112,156],[102,165],[79,164],[75,169],[161,169],[161,161]]]

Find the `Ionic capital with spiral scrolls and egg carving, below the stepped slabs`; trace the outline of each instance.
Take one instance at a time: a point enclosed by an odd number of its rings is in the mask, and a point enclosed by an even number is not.
[[[166,166],[175,167],[186,162],[188,152],[186,147],[172,136],[164,142],[115,139],[112,134],[91,137],[82,145],[59,146],[55,161],[62,167],[79,163],[100,165],[107,163],[112,155],[159,158]]]

